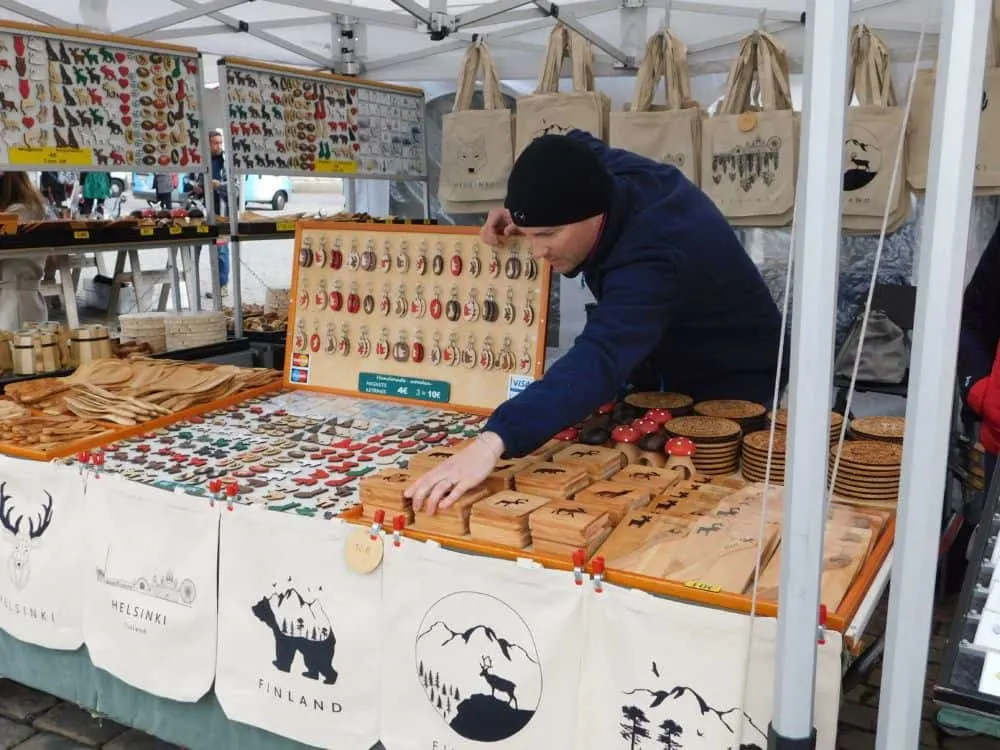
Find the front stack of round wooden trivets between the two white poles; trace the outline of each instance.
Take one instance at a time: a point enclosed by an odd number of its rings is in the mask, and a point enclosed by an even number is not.
[[[836,452],[830,453],[832,475]],[[892,506],[899,496],[903,446],[882,440],[848,440],[840,456],[833,491],[862,505]]]

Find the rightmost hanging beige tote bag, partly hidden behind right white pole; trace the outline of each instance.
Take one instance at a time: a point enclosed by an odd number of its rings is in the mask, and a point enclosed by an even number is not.
[[[976,195],[1000,193],[1000,3],[994,2],[986,45],[986,72],[980,105],[979,146],[976,153]],[[917,72],[910,107],[910,135],[907,142],[906,181],[918,193],[927,189],[931,130],[934,120],[934,69]]]

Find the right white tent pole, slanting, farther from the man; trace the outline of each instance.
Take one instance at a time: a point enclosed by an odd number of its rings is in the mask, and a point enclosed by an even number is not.
[[[941,5],[878,750],[920,736],[991,12],[990,0]]]

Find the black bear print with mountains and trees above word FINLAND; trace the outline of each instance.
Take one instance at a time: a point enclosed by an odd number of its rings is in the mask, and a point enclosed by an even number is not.
[[[281,594],[263,597],[251,608],[257,619],[271,628],[274,635],[274,666],[290,672],[296,653],[302,655],[306,671],[303,677],[333,685],[337,670],[333,654],[337,639],[330,618],[318,600],[307,602],[294,588]]]

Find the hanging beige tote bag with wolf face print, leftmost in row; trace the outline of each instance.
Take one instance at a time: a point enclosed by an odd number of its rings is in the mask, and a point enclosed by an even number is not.
[[[472,109],[478,71],[483,109]],[[514,117],[504,107],[489,48],[476,41],[465,52],[455,105],[443,118],[438,198],[447,211],[479,213],[503,203],[514,163]]]

